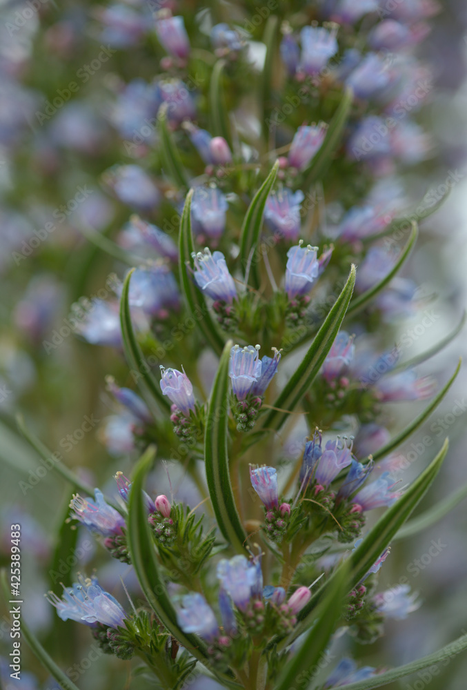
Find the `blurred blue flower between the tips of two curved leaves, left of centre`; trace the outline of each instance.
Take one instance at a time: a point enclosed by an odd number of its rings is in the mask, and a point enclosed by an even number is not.
[[[138,307],[149,317],[168,317],[169,311],[180,308],[177,281],[166,264],[137,268],[130,281],[130,307]]]

